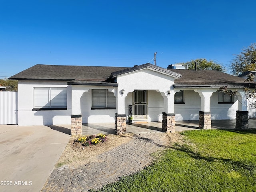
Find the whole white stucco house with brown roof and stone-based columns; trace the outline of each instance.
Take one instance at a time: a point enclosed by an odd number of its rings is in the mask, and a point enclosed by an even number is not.
[[[163,131],[174,131],[175,120],[199,119],[200,127],[210,128],[211,119],[248,116],[248,83],[214,70],[37,64],[9,79],[18,80],[18,125],[71,124],[72,134],[95,122],[116,122],[122,133],[129,116],[161,117]],[[238,90],[237,98],[217,92],[220,86]]]

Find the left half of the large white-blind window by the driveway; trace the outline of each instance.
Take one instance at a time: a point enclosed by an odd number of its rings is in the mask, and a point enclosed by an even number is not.
[[[34,107],[50,107],[50,88],[35,87],[34,88]]]

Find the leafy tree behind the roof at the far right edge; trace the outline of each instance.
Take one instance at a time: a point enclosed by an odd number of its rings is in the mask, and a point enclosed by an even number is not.
[[[256,44],[253,43],[232,60],[231,72],[233,75],[240,75],[243,72],[255,70],[256,68]]]

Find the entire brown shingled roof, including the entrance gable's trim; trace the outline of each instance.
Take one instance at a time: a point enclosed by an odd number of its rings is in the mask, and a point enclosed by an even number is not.
[[[241,88],[248,86],[243,78],[218,72],[215,70],[182,70],[164,69],[152,64],[143,64],[127,67],[105,67],[105,66],[65,66],[65,65],[42,65],[37,64],[14,76],[10,80],[64,80],[68,84],[100,85],[104,82],[106,86],[118,86],[114,82],[116,76],[150,68],[161,73],[174,76],[174,87],[218,87],[233,86]],[[100,84],[99,84],[100,83]],[[256,83],[251,83],[251,87]]]

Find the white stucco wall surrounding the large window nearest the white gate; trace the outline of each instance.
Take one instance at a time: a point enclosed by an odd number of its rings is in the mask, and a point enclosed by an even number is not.
[[[21,81],[18,83],[18,125],[70,124],[71,89],[60,81]],[[34,87],[67,87],[67,110],[32,111]]]

